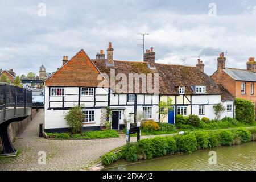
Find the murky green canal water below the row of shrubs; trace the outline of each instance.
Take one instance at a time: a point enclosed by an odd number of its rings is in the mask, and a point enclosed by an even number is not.
[[[213,152],[212,152],[213,151]],[[216,153],[215,153],[216,152]],[[209,155],[209,153],[211,155]],[[216,160],[214,156],[216,154]],[[209,162],[210,159],[210,162]],[[107,171],[176,171],[176,170],[256,170],[256,142],[236,146],[222,146],[193,152],[170,155],[152,160],[114,163]]]

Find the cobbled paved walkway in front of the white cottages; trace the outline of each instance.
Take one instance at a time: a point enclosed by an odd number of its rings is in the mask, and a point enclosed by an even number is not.
[[[43,110],[36,114],[27,129],[14,142],[21,151],[17,158],[0,160],[0,170],[79,170],[101,155],[126,144],[120,138],[97,140],[48,140],[38,137],[39,123],[43,123]],[[142,137],[148,138],[152,136]],[[154,137],[154,136],[153,136]],[[131,141],[136,140],[131,137]],[[46,164],[38,164],[39,152],[46,152]]]

